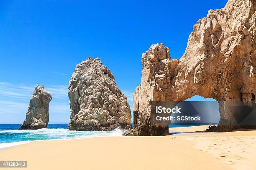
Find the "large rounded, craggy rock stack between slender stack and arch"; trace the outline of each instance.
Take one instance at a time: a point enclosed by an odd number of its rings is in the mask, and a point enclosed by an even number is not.
[[[78,64],[69,80],[69,130],[114,130],[131,125],[126,96],[100,58]]]

